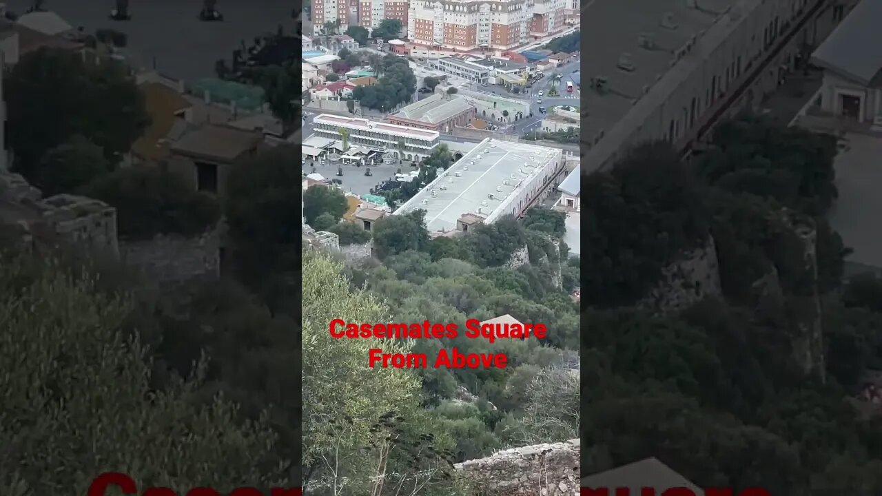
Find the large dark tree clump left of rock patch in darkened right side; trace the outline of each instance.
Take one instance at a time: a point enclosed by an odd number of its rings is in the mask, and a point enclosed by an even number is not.
[[[664,144],[636,149],[582,186],[582,297],[600,306],[644,297],[662,268],[706,241],[699,184]]]

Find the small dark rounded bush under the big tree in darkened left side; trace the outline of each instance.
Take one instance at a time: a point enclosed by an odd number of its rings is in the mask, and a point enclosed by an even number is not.
[[[75,135],[43,155],[34,170],[34,185],[44,196],[75,192],[112,169],[101,147]]]

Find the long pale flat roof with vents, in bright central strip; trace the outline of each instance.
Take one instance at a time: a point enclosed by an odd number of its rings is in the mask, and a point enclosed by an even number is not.
[[[484,139],[395,214],[425,210],[430,232],[456,229],[462,214],[481,214],[485,222],[493,222],[515,198],[514,193],[532,186],[540,172],[557,163],[562,154],[558,148]]]

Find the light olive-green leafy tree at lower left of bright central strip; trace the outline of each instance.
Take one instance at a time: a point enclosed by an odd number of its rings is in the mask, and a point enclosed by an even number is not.
[[[365,374],[370,348],[407,352],[408,342],[333,339],[327,322],[383,322],[388,308],[376,297],[352,291],[341,267],[317,252],[303,257],[303,466],[305,475],[324,474],[335,494],[346,479],[366,479],[363,449],[389,434],[377,432],[386,412],[415,410],[419,380],[407,369],[376,368]],[[346,387],[351,385],[351,387]],[[373,456],[371,456],[373,457]],[[384,470],[385,472],[385,470]],[[349,491],[353,491],[350,488]],[[355,492],[369,494],[370,491]]]

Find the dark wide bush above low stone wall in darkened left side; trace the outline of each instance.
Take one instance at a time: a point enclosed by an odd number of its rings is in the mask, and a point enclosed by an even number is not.
[[[116,230],[131,240],[158,234],[197,236],[221,218],[212,195],[194,192],[177,175],[153,165],[116,170],[81,192],[116,208]]]

